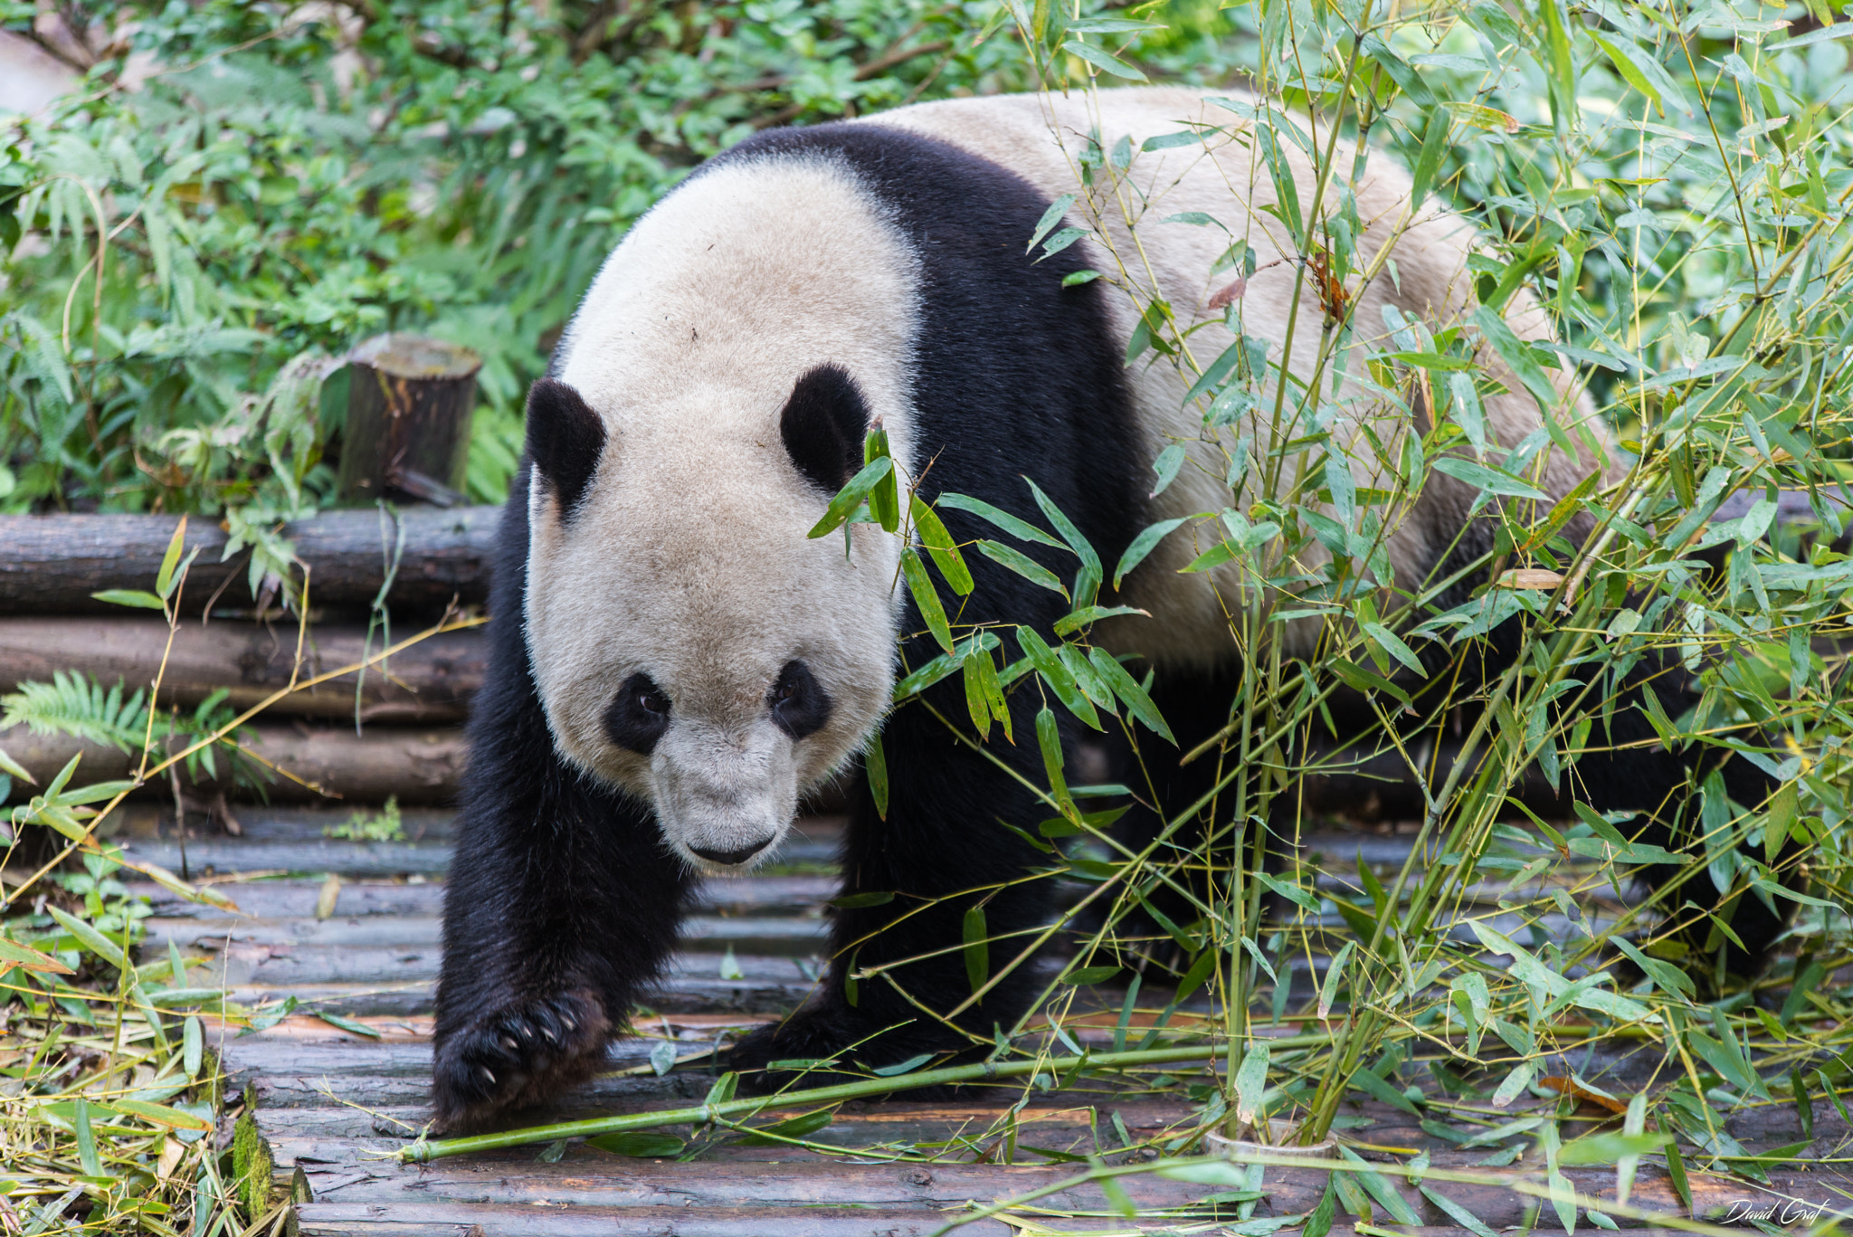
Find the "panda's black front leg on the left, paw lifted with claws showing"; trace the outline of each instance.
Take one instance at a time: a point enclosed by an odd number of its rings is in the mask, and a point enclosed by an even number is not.
[[[526,491],[524,467],[502,517],[445,885],[434,1066],[445,1129],[484,1126],[602,1068],[674,946],[689,886],[649,810],[554,753],[523,631]]]

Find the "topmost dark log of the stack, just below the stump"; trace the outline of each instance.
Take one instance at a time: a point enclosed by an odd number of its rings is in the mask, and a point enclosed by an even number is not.
[[[387,605],[441,612],[452,599],[476,605],[489,595],[489,560],[500,506],[324,512],[284,525],[296,558],[309,567],[309,606],[365,610],[385,582],[398,527],[406,547]],[[122,614],[95,601],[106,588],[154,588],[178,516],[0,516],[0,614]],[[198,618],[224,586],[217,606],[250,608],[246,555],[222,562],[228,536],[211,517],[187,521],[187,549],[198,549],[182,597],[182,614]]]

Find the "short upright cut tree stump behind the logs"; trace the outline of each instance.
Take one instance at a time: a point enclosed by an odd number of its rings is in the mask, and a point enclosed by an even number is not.
[[[482,358],[422,336],[374,336],[348,354],[343,503],[463,501],[469,423]]]

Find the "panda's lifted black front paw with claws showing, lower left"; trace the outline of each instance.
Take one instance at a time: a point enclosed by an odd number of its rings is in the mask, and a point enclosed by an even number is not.
[[[604,1005],[587,990],[473,1020],[437,1048],[432,1081],[439,1129],[476,1129],[591,1078],[610,1035]]]

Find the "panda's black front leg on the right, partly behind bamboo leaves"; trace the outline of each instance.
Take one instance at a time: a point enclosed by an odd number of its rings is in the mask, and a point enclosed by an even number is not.
[[[964,707],[962,697],[956,703]],[[1014,729],[1015,746],[993,729],[990,749],[1041,784],[1034,716],[1017,708]],[[756,1070],[784,1059],[884,1066],[956,1052],[975,1039],[990,1040],[993,1024],[1008,1029],[1036,992],[1032,968],[1021,963],[982,1000],[969,1001],[964,929],[967,911],[982,905],[995,976],[1049,922],[1051,881],[1025,879],[1043,857],[999,823],[1034,833],[1047,807],[921,705],[888,720],[882,746],[888,818],[876,812],[867,781],[858,779],[843,844],[843,894],[891,898],[836,911],[828,976],[789,1018],[741,1040],[730,1068]],[[773,1081],[747,1079],[760,1087]],[[821,1074],[808,1074],[806,1085],[821,1085]]]

